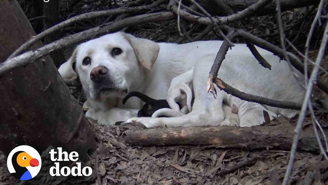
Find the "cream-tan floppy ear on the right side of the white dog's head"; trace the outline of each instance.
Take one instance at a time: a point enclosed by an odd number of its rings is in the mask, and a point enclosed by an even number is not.
[[[159,52],[159,45],[148,39],[141,39],[130,34],[122,33],[123,37],[130,42],[139,62],[151,70]]]

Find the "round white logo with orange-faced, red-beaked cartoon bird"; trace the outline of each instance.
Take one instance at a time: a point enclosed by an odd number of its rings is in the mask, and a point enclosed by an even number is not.
[[[31,146],[17,146],[8,155],[7,167],[17,179],[29,180],[35,177],[41,169],[40,154]]]

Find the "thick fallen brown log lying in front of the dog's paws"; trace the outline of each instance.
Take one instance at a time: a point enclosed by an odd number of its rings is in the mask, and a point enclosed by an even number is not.
[[[124,133],[124,140],[130,145],[213,145],[221,148],[275,148],[290,150],[294,128],[290,123],[272,126],[210,126],[210,127],[168,127],[154,129],[130,129]],[[326,132],[327,135],[327,132]],[[300,134],[298,149],[319,151],[312,126]]]

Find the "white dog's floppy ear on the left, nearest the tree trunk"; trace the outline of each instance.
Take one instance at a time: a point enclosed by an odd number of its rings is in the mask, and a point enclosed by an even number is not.
[[[77,48],[74,50],[70,59],[58,68],[59,74],[63,79],[76,80],[77,74],[73,69],[76,61]]]

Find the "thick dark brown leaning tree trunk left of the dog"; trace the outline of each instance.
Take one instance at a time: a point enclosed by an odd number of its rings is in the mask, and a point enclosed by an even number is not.
[[[0,1],[0,12],[3,62],[35,32],[17,1]],[[37,42],[31,49],[41,45]],[[41,154],[52,145],[77,151],[82,161],[89,160],[88,151],[96,148],[92,129],[84,115],[77,123],[81,107],[49,56],[3,74],[0,84],[1,151],[8,155],[18,145],[30,145]]]

